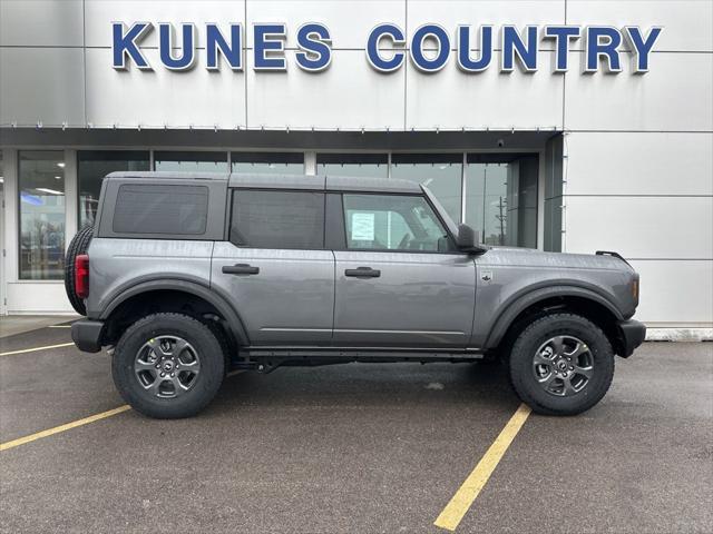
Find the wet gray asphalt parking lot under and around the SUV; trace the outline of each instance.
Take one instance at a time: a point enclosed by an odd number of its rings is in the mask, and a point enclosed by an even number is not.
[[[109,356],[69,340],[0,338],[0,532],[447,532],[519,406],[498,366],[350,364],[237,374],[192,419],[107,415]],[[710,533],[712,502],[713,344],[649,343],[587,414],[530,415],[456,532]]]

